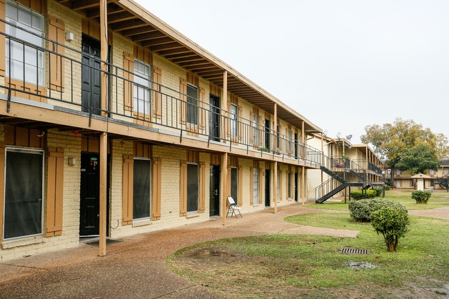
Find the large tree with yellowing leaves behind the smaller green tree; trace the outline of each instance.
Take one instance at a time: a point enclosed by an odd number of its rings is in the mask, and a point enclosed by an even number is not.
[[[394,168],[401,161],[405,149],[414,148],[421,144],[427,148],[434,148],[439,159],[447,157],[449,153],[448,138],[439,133],[434,134],[430,128],[423,128],[413,120],[397,118],[392,124],[378,124],[365,126],[366,134],[361,136],[365,144],[372,144],[374,152],[392,168],[392,186]]]

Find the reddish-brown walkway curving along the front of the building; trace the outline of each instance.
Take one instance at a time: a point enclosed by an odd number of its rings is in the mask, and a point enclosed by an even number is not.
[[[0,298],[225,298],[172,273],[166,258],[191,244],[270,233],[298,233],[355,237],[357,231],[320,229],[285,222],[298,213],[331,213],[290,204],[221,218],[176,229],[144,233],[108,244],[100,258],[98,247],[81,244],[75,249],[34,255],[0,263]]]

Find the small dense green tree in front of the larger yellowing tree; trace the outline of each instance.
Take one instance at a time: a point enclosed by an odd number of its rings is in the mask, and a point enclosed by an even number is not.
[[[412,148],[405,148],[401,153],[401,160],[395,165],[401,171],[407,171],[411,175],[426,173],[428,169],[438,169],[440,159],[436,151],[426,144],[419,144]]]

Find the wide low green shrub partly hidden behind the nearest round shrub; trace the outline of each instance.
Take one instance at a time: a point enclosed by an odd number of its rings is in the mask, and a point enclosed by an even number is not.
[[[371,214],[383,207],[392,207],[407,213],[407,209],[400,202],[393,202],[392,200],[353,200],[349,204],[351,217],[360,222],[370,222]]]

